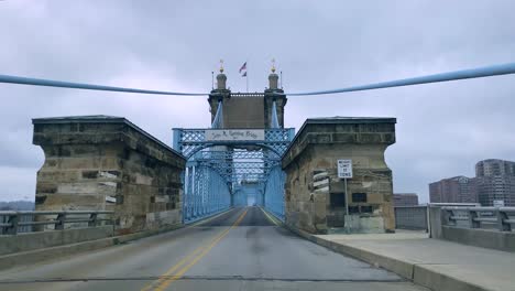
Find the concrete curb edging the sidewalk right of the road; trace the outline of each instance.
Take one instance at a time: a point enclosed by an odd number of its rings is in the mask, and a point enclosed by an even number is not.
[[[381,267],[385,270],[392,271],[416,284],[438,291],[490,291],[487,289],[471,282],[467,282],[460,278],[454,278],[443,272],[436,271],[430,268],[431,265],[417,263],[414,261],[402,260],[388,256],[379,255],[370,250],[361,249],[358,247],[338,244],[314,236],[304,230],[294,228],[287,224],[283,224],[287,229],[297,234],[298,236],[310,240],[317,245],[329,248],[336,252],[350,256],[361,261],[368,262],[375,267]]]

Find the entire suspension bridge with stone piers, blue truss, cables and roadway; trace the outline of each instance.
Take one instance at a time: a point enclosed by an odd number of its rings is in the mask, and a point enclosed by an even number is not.
[[[393,234],[397,211],[384,151],[395,143],[396,119],[308,118],[295,132],[284,116],[287,96],[514,73],[512,63],[292,94],[280,88],[274,67],[263,93],[232,93],[223,68],[209,93],[0,75],[6,84],[208,96],[211,114],[209,127],[174,128],[172,146],[123,117],[33,119],[33,143],[45,153],[36,211],[0,212],[0,290],[487,290],[479,287],[481,272],[504,290],[513,283],[506,279],[513,256],[495,251],[515,241],[515,209],[418,212],[420,229],[460,247]],[[343,160],[350,176],[340,173]],[[484,212],[491,216],[478,216]],[[461,220],[470,229],[458,227]],[[483,224],[497,229],[479,234]],[[496,248],[478,254],[503,268],[467,265],[463,254],[479,248],[465,244]],[[420,247],[431,260],[402,252]]]

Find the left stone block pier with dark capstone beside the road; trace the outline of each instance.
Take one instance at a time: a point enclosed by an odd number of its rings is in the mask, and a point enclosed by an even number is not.
[[[120,117],[33,119],[36,211],[114,211],[119,233],[182,223],[184,157]]]

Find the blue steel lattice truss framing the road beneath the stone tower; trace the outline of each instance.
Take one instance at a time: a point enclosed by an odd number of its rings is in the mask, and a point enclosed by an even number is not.
[[[264,129],[264,140],[212,141],[210,129],[174,129],[174,149],[188,158],[184,173],[183,217],[186,223],[246,205],[248,196],[284,217],[281,157],[294,138],[293,128]]]

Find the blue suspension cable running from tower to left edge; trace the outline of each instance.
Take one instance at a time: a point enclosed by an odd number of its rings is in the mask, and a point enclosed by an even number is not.
[[[145,89],[112,87],[112,86],[92,85],[92,84],[83,84],[83,83],[72,83],[72,82],[62,82],[62,80],[52,80],[52,79],[28,78],[28,77],[9,76],[9,75],[0,75],[0,83],[10,83],[10,84],[19,84],[19,85],[34,85],[34,86],[45,86],[45,87],[59,87],[59,88],[70,88],[70,89],[85,89],[85,90],[124,91],[124,93],[175,95],[175,96],[205,96],[205,95],[208,95],[207,93],[182,93],[182,91],[145,90]]]

